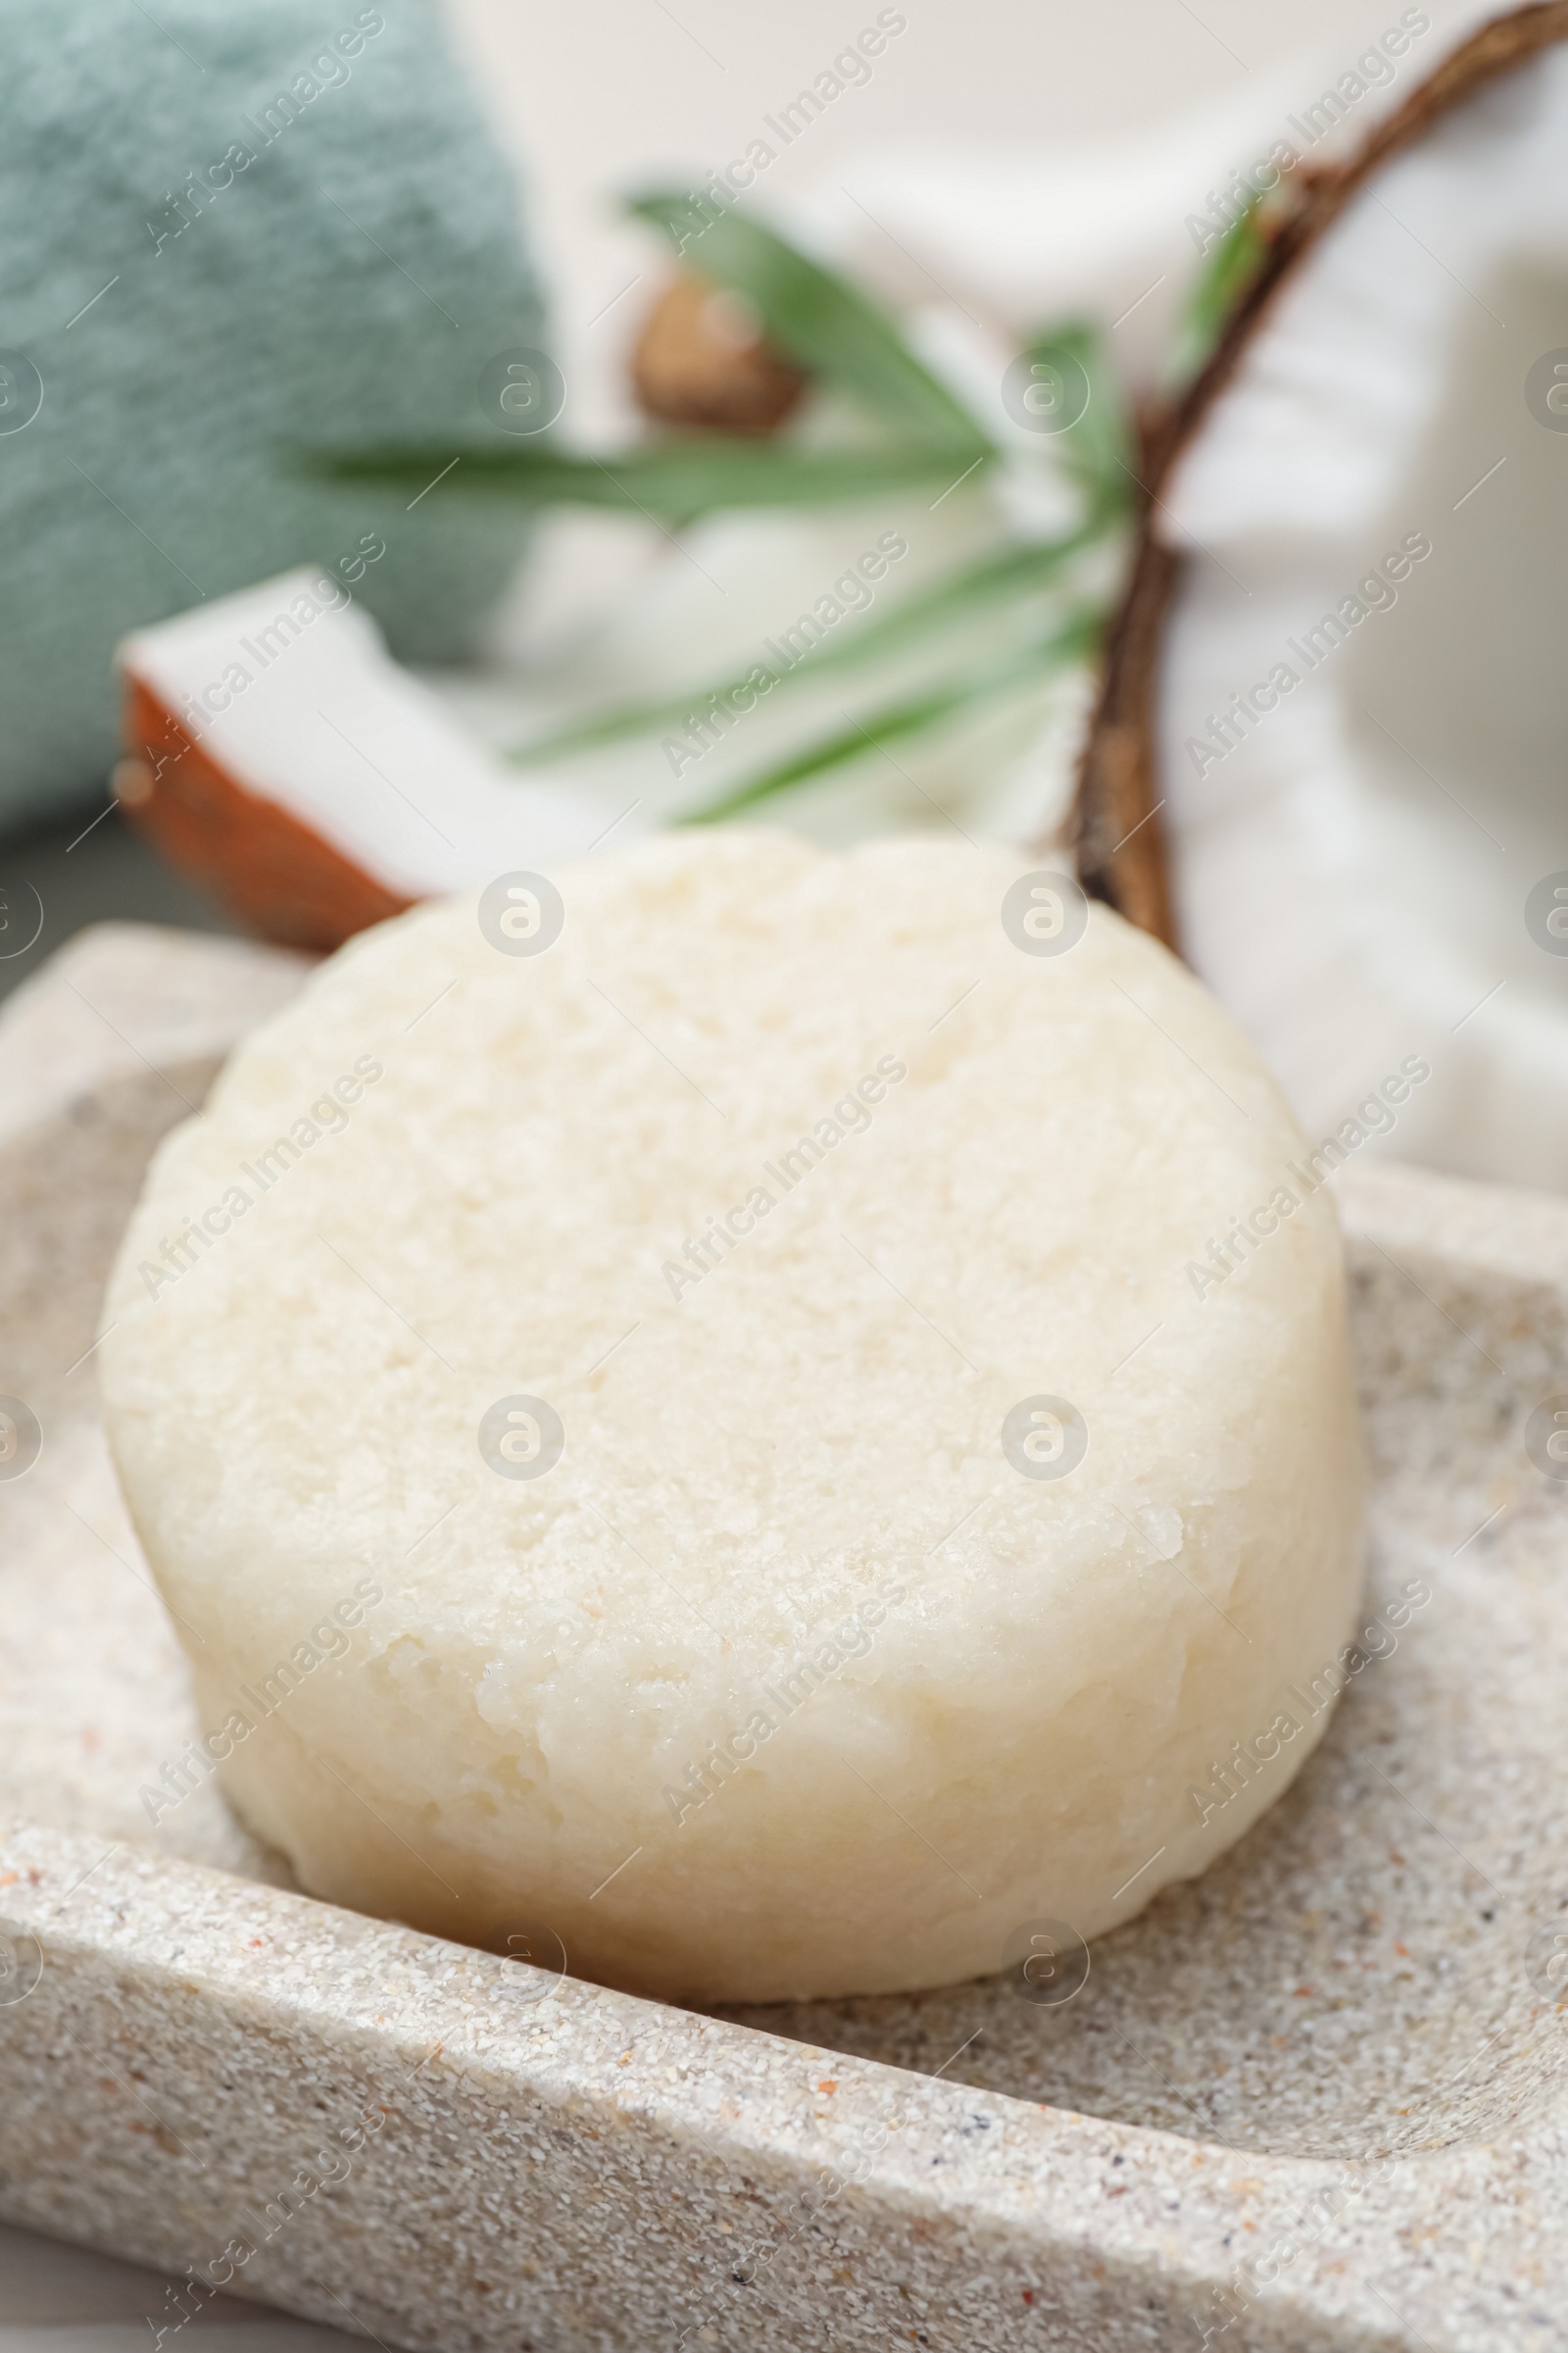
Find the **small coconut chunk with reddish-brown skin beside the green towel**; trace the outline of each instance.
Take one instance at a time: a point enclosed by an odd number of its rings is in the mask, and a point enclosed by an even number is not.
[[[301,567],[118,647],[115,795],[254,932],[336,948],[416,899],[585,849],[581,798],[527,784]]]

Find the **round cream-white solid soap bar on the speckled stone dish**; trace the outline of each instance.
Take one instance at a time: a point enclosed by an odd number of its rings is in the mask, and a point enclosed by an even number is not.
[[[999,849],[677,833],[360,936],[165,1141],[108,1322],[205,1734],[148,1814],[221,1760],[313,1894],[574,1974],[1093,1937],[1342,1680],[1328,1193]]]

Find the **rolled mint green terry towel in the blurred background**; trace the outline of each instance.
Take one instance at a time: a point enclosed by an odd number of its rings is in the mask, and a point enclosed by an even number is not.
[[[324,562],[395,652],[470,652],[515,515],[289,449],[473,442],[480,369],[541,315],[428,0],[0,0],[0,54],[9,828],[101,791],[115,638],[202,595]]]

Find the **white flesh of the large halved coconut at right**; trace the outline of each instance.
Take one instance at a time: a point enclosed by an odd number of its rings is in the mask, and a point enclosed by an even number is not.
[[[1368,181],[1286,285],[1166,492],[1159,720],[1182,941],[1314,1139],[1418,1052],[1392,1148],[1554,1188],[1568,955],[1526,901],[1568,880],[1566,151],[1559,49]]]

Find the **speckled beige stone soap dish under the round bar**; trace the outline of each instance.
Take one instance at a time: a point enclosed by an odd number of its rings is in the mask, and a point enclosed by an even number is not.
[[[0,1388],[45,1433],[0,1480],[0,2214],[430,2353],[1563,2346],[1568,1205],[1338,1179],[1363,1664],[1072,2000],[665,2009],[315,1904],[212,1784],[136,1800],[195,1718],[99,1299],[299,969],[113,927],[0,1021]]]

